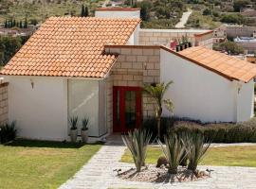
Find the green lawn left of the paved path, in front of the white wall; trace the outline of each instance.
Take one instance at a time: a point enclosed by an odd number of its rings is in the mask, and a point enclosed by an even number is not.
[[[25,140],[0,145],[0,188],[58,188],[100,147]]]

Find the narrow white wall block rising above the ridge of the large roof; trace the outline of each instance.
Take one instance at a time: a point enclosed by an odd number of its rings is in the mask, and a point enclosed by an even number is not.
[[[95,17],[102,18],[140,18],[140,10],[117,11],[117,10],[96,10]]]

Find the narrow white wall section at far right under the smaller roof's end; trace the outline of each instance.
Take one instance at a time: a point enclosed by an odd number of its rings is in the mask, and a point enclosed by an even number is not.
[[[254,81],[240,83],[237,93],[237,122],[247,121],[254,114]]]

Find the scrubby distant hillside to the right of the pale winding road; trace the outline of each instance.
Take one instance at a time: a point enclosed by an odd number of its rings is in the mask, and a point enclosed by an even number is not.
[[[187,27],[216,28],[222,23],[255,26],[254,18],[244,16],[246,9],[256,9],[255,0],[188,0],[192,15]]]

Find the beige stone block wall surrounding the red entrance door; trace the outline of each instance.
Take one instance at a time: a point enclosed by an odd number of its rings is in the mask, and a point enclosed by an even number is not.
[[[107,126],[112,132],[113,125],[113,86],[143,87],[160,82],[159,46],[113,46],[106,47],[106,53],[119,54],[107,81]],[[142,95],[143,117],[153,116],[155,104]]]

